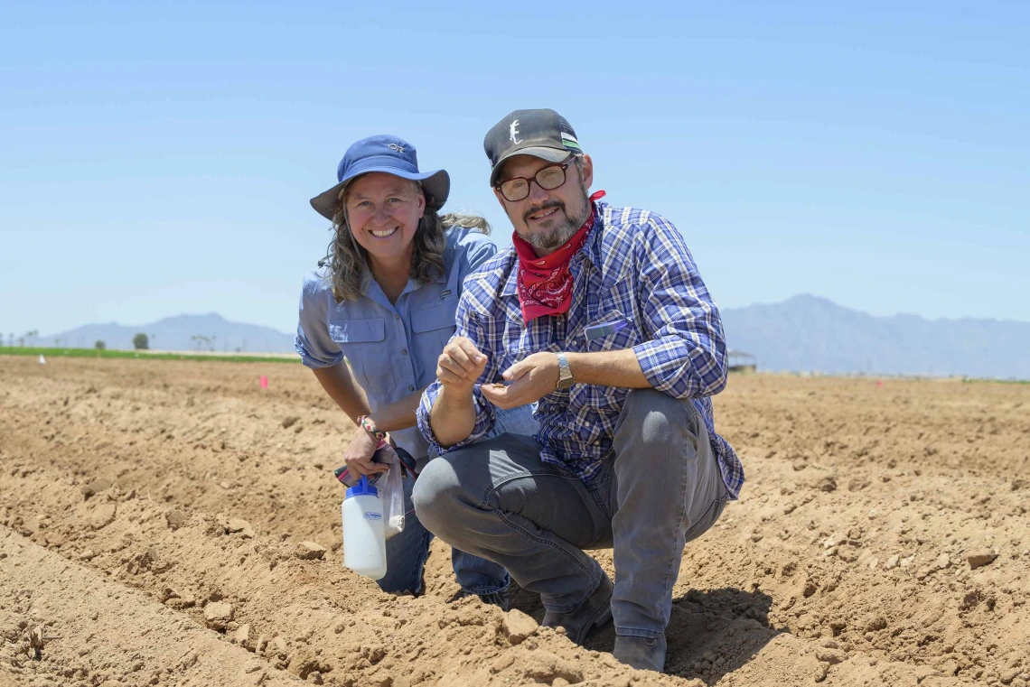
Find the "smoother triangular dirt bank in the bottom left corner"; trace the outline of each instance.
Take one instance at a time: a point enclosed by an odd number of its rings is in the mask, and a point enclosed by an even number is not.
[[[26,684],[301,683],[145,594],[4,527],[0,627],[6,640],[0,675]]]

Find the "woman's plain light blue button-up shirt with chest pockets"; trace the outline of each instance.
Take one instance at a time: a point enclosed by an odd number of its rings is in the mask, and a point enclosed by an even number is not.
[[[363,295],[336,302],[327,270],[304,278],[295,349],[311,368],[336,365],[345,357],[373,412],[400,401],[437,378],[437,360],[454,333],[454,311],[466,276],[497,252],[482,233],[461,227],[447,231],[446,274],[437,281],[408,285],[396,303],[368,273]],[[427,444],[417,427],[390,432],[416,459]]]

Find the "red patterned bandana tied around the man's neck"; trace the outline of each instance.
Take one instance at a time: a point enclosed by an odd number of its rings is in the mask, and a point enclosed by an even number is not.
[[[544,257],[537,257],[533,246],[517,233],[512,234],[512,243],[518,254],[518,302],[522,306],[525,324],[542,315],[568,313],[573,298],[573,276],[569,262],[583,247],[590,229],[593,228],[593,203],[605,196],[597,191],[590,196],[590,216],[579,231],[558,250]]]

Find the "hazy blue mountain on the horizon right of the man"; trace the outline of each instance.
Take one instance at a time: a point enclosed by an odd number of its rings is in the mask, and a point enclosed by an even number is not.
[[[1030,322],[872,317],[812,295],[721,313],[759,369],[1030,379]]]

